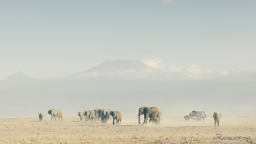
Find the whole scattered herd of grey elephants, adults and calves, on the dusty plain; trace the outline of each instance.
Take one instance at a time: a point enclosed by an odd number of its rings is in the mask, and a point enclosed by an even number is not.
[[[56,117],[58,118],[58,120],[61,118],[61,121],[63,121],[62,119],[62,111],[60,109],[52,109],[48,111],[48,114],[51,115],[51,118],[53,119],[54,117],[54,121],[56,121]],[[122,112],[120,111],[112,111],[111,109],[94,109],[94,110],[89,110],[89,111],[84,111],[84,112],[77,112],[77,115],[80,117],[80,121],[82,121],[84,119],[84,121],[99,121],[101,123],[106,123],[109,119],[113,119],[113,125],[115,125],[115,120],[116,120],[116,124],[120,125],[122,124]],[[156,125],[160,125],[160,120],[162,113],[161,110],[158,107],[141,107],[139,109],[139,114],[137,117],[139,117],[139,124],[140,123],[140,116],[144,115],[144,122],[142,124],[142,126],[147,123],[148,119],[149,119],[149,123],[152,122],[152,124],[156,124]],[[45,116],[44,113],[38,113],[39,116],[39,121],[42,121],[43,117]],[[212,114],[212,117],[214,118],[214,126],[216,126],[216,122],[220,123],[220,118],[222,117],[221,113],[216,113],[214,112]]]

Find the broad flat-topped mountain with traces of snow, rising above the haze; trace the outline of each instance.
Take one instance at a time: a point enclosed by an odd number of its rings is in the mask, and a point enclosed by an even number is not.
[[[98,73],[113,73],[113,72],[133,72],[133,71],[144,71],[151,70],[150,68],[139,60],[133,59],[117,59],[117,60],[108,60],[100,65],[90,68],[86,71],[76,73],[71,76],[83,76],[89,74],[98,74]],[[70,77],[70,76],[68,76]]]

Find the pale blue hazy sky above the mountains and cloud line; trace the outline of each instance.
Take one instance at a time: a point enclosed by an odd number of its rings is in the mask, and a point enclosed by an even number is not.
[[[168,1],[168,0],[166,0]],[[170,1],[169,1],[170,2]],[[113,59],[256,71],[256,1],[0,1],[0,80],[62,77]]]

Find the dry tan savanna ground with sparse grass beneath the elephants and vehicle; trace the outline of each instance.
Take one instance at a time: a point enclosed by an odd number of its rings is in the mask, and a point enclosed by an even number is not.
[[[138,117],[123,118],[122,125],[111,122],[84,122],[77,118],[63,121],[38,119],[0,119],[0,143],[84,144],[84,143],[254,143],[256,118],[221,118],[213,127],[212,117],[205,121],[185,121],[182,117],[163,117],[160,126],[138,124]],[[142,118],[144,120],[144,118]],[[219,140],[222,136],[251,136],[252,141]]]

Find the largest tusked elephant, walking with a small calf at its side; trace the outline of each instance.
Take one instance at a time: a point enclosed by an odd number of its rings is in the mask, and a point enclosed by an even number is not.
[[[147,107],[147,106],[141,107],[139,109],[139,114],[138,114],[139,124],[140,124],[140,116],[142,114],[144,114],[144,122],[143,122],[142,126],[145,123],[147,123],[148,118],[154,118],[154,117],[157,117],[159,119],[158,124],[160,125],[160,119],[161,119],[162,113],[161,113],[161,110],[158,107]]]

